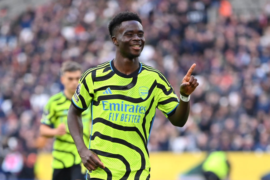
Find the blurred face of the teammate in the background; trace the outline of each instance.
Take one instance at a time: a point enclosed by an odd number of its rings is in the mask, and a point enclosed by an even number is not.
[[[81,75],[82,72],[80,70],[73,72],[66,71],[61,77],[61,83],[63,84],[64,89],[70,94],[75,93]]]

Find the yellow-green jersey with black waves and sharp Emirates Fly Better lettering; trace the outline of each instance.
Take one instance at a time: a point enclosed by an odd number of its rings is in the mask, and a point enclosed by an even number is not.
[[[72,104],[92,108],[89,149],[105,169],[90,172],[93,179],[149,179],[147,143],[156,108],[166,117],[178,106],[173,87],[158,70],[139,63],[123,74],[113,60],[86,70],[79,80]]]

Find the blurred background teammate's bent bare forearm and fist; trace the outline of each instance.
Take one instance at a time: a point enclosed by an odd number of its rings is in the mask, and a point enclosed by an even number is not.
[[[64,135],[66,134],[65,124],[60,124],[57,128],[51,128],[46,124],[40,124],[39,132],[41,136],[53,137],[55,135]]]

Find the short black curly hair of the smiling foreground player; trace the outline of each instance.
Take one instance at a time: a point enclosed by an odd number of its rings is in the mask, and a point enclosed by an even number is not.
[[[125,11],[116,14],[108,25],[110,37],[112,38],[115,35],[117,28],[119,28],[122,22],[133,20],[142,23],[140,16],[136,12]]]

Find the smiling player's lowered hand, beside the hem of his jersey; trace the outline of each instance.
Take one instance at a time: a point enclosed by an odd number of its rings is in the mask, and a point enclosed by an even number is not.
[[[105,168],[97,154],[90,151],[88,148],[84,148],[79,154],[83,165],[88,169],[88,171],[95,171],[99,167],[103,169]]]

